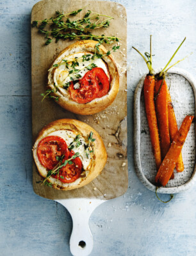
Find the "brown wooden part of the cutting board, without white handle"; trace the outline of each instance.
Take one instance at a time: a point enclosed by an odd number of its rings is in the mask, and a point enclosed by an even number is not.
[[[117,42],[120,45],[120,50],[113,53],[120,75],[120,90],[113,104],[101,113],[81,116],[61,108],[53,99],[46,98],[42,102],[41,93],[45,92],[47,70],[60,51],[75,41],[58,41],[57,43],[53,41],[48,46],[45,46],[44,36],[38,33],[37,28],[31,28],[33,143],[37,138],[38,132],[47,123],[60,118],[74,118],[88,123],[101,135],[108,153],[108,161],[101,175],[85,187],[70,191],[55,190],[36,183],[36,181],[40,181],[40,176],[35,163],[33,163],[33,188],[35,193],[55,200],[82,197],[106,200],[121,196],[127,190],[127,27],[125,8],[118,3],[107,1],[44,0],[33,7],[31,22],[50,18],[57,10],[69,13],[84,6],[83,11],[74,16],[74,19],[83,17],[87,10],[110,15],[115,18],[111,21],[110,27],[104,28],[104,30],[95,30],[94,33],[97,35],[102,35],[103,33],[110,36],[115,35],[121,39],[119,43]],[[115,44],[107,44],[106,48],[110,50],[113,45]]]

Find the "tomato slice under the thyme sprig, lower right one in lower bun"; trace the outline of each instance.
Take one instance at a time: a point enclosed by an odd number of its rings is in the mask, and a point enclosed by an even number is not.
[[[74,154],[75,154],[74,151],[70,151],[69,158],[71,158]],[[65,167],[61,168],[58,176],[52,175],[52,177],[59,179],[63,183],[71,183],[76,181],[76,179],[78,179],[79,176],[81,175],[83,164],[79,159],[79,157],[72,159],[71,161],[72,161],[71,165],[67,163]]]

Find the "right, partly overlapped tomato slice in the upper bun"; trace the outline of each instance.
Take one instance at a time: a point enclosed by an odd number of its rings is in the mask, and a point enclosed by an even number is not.
[[[94,77],[99,84],[99,93],[97,98],[101,98],[102,96],[106,95],[110,89],[109,78],[102,68],[93,68],[88,73],[90,72],[92,77]]]

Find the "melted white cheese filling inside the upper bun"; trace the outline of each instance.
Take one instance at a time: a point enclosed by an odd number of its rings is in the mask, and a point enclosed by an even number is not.
[[[88,53],[88,52],[74,53],[65,58],[69,63],[68,67],[66,67],[66,63],[63,60],[59,63],[60,66],[58,66],[58,68],[56,68],[54,71],[54,83],[56,84],[56,86],[63,87],[63,85],[70,82],[71,80],[74,81],[74,80],[79,80],[83,78],[84,75],[89,71],[87,67],[92,63],[94,63],[98,68],[102,68],[106,73],[106,75],[108,76],[108,78],[110,78],[107,65],[102,59],[94,59],[94,60],[88,60],[88,61],[82,61],[82,59],[80,59],[78,60],[79,65],[75,67],[75,69],[78,69],[79,71],[77,73],[69,74],[69,71],[74,69],[71,67],[71,62],[81,58],[83,55],[86,55],[86,54],[89,54],[91,56],[93,55],[92,53]],[[79,78],[78,78],[78,75],[79,75]],[[63,89],[63,92],[64,91],[66,90]]]

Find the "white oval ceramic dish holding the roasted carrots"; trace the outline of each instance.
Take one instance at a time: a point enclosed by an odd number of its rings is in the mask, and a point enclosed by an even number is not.
[[[156,70],[156,73],[161,69]],[[145,114],[144,98],[142,93],[145,75],[135,89],[134,98],[134,154],[135,169],[140,181],[155,191],[156,166],[152,154],[151,138]],[[196,82],[194,78],[183,69],[172,68],[166,77],[170,89],[172,104],[176,114],[177,125],[180,127],[183,119],[188,114],[195,115]],[[170,179],[165,187],[158,189],[162,194],[176,194],[187,190],[193,185],[196,179],[195,167],[195,123],[192,123],[186,142],[183,145],[183,172],[174,170],[174,179]]]

